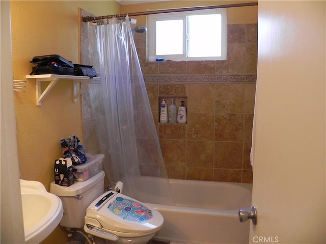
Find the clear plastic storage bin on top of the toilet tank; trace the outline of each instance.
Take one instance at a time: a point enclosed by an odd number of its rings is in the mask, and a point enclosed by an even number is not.
[[[84,181],[102,171],[103,154],[86,154],[85,164],[73,165],[73,176],[77,181]]]

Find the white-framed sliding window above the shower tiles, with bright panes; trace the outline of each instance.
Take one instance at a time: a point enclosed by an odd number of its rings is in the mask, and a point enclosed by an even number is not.
[[[226,10],[147,16],[148,59],[226,59]]]

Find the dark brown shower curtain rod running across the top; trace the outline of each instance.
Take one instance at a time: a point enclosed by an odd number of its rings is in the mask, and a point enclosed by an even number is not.
[[[125,17],[125,16],[140,16],[140,15],[150,15],[150,14],[164,14],[164,13],[174,13],[174,12],[185,12],[185,11],[194,11],[194,10],[203,10],[203,9],[222,9],[222,8],[234,8],[234,7],[247,7],[247,6],[257,6],[258,2],[254,3],[242,3],[242,4],[227,4],[227,5],[215,5],[215,6],[203,6],[203,7],[191,7],[191,8],[179,8],[179,9],[165,9],[165,10],[153,10],[137,13],[128,13],[128,14],[112,14],[99,17],[85,16],[83,17],[84,22],[100,20],[100,19],[111,19],[114,17]]]

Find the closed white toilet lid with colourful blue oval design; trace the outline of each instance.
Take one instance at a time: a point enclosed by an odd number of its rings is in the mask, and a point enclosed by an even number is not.
[[[86,215],[96,219],[107,230],[124,233],[155,232],[164,222],[156,209],[113,191],[93,201]]]

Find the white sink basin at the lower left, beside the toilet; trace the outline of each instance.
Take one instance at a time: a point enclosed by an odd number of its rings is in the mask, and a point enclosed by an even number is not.
[[[62,202],[38,181],[20,179],[20,191],[25,243],[40,243],[61,221]]]

